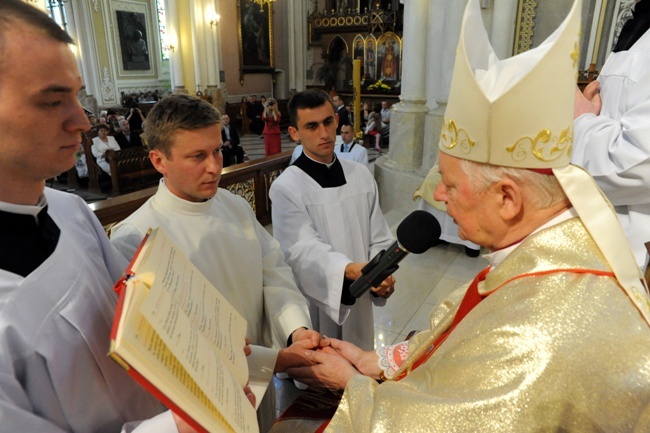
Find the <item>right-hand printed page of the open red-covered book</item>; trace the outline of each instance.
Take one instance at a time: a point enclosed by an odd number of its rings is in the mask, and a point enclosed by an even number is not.
[[[243,392],[246,321],[163,231],[152,235],[135,269],[154,275],[140,312],[229,424],[256,420]]]

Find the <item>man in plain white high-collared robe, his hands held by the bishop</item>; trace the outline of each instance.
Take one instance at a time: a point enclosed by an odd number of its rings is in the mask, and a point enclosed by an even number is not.
[[[170,96],[150,111],[145,134],[149,157],[163,179],[153,197],[111,229],[111,242],[131,259],[149,228],[168,233],[246,319],[251,388],[259,402],[274,371],[286,367],[292,348],[283,348],[293,342],[311,344],[296,343],[295,362],[320,340],[317,332],[307,330],[307,301],[280,245],[251,206],[218,188],[223,168],[219,112],[199,98]],[[272,403],[262,412],[273,412]],[[269,416],[261,419],[266,422]]]

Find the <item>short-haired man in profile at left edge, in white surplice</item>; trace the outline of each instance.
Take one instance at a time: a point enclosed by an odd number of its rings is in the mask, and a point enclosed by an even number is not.
[[[0,431],[176,433],[107,355],[126,260],[83,200],[45,188],[90,128],[72,39],[20,0],[0,17]]]

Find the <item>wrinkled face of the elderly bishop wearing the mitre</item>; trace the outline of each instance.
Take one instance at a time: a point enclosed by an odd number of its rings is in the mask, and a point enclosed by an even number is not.
[[[440,152],[438,167],[442,181],[433,197],[447,205],[447,213],[458,225],[461,239],[490,248],[498,208],[491,207],[489,192],[475,192],[461,166],[461,160]]]

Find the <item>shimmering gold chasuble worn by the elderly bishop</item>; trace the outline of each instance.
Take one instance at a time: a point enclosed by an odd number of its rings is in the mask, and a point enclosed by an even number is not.
[[[406,366],[465,290],[413,337]],[[353,378],[326,431],[650,431],[650,329],[580,219],[527,238],[479,293],[490,295],[405,378]]]

